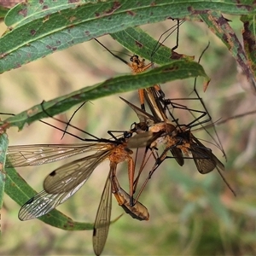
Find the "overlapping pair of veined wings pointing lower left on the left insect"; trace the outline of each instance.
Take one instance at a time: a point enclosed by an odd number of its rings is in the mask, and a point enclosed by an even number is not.
[[[55,175],[51,172],[44,180],[44,190],[20,208],[19,218],[21,220],[38,218],[67,201],[87,181],[96,166],[108,157],[110,151],[105,150],[100,153],[61,166],[54,171]]]

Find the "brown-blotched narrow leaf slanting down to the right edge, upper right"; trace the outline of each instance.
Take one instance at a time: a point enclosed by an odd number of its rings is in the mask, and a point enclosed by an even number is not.
[[[207,23],[207,26],[209,26],[212,32],[214,32],[214,34],[216,34],[218,38],[220,38],[222,42],[227,46],[227,48],[230,50],[231,55],[233,55],[233,57],[236,59],[237,63],[240,65],[243,72],[247,76],[247,79],[248,80],[254,79],[254,83],[255,83],[255,79],[256,79],[255,62],[253,63],[253,61],[247,61],[247,56],[238,38],[236,37],[236,33],[231,28],[229,22],[219,12],[211,12],[207,15],[201,15],[201,19]],[[250,26],[250,28],[253,30],[253,24],[252,26]],[[251,36],[254,38],[254,40],[250,41],[250,43],[253,43],[253,45],[252,45],[252,48],[250,48],[249,50],[250,50],[250,55],[255,56],[256,55],[255,33],[254,35],[251,34]],[[256,58],[253,58],[253,59],[255,61]],[[252,71],[254,72],[254,78],[253,78]]]

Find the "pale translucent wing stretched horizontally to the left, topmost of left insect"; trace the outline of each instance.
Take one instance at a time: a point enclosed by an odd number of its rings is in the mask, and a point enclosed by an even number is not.
[[[38,144],[9,146],[6,167],[38,166],[76,154],[106,148],[108,143]]]

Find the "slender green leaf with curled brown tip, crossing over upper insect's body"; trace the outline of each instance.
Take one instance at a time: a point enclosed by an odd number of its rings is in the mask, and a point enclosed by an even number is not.
[[[9,119],[5,119],[4,122],[0,122],[0,125],[17,126],[19,129],[22,129],[26,124],[49,117],[49,115],[54,116],[57,113],[62,113],[80,102],[95,100],[115,93],[146,88],[153,84],[162,84],[167,81],[198,76],[204,77],[206,83],[209,82],[203,67],[195,61],[173,61],[165,66],[156,67],[149,72],[108,79],[103,83],[85,87],[66,96],[60,96],[49,102],[44,102],[44,109],[42,104],[36,105]]]

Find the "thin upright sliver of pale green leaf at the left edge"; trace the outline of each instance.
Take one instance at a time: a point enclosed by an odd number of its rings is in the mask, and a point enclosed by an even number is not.
[[[8,136],[5,132],[2,132],[2,134],[0,135],[0,211],[3,206],[3,192],[4,192],[5,178],[6,178],[4,165],[6,160],[6,152],[7,152],[8,144],[9,144]],[[1,218],[1,213],[0,213],[0,218]],[[1,234],[1,229],[0,229],[0,234]]]

